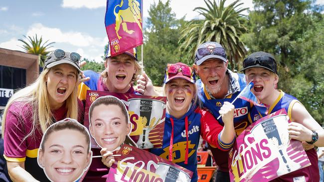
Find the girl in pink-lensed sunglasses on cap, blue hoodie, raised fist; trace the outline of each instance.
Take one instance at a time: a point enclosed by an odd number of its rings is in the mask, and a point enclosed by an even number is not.
[[[196,182],[197,149],[200,135],[211,145],[227,151],[231,148],[235,132],[234,106],[225,102],[219,113],[224,128],[208,110],[198,105],[195,73],[183,63],[167,64],[164,74],[164,93],[167,98],[163,144],[151,149],[164,159],[193,172],[191,181]]]

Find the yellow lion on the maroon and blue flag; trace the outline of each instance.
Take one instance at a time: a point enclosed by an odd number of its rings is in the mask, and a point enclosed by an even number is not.
[[[130,23],[137,23],[139,28],[142,30],[142,17],[141,17],[141,9],[140,9],[140,3],[137,0],[128,0],[128,8],[127,9],[121,9],[121,7],[124,4],[124,0],[121,1],[121,4],[118,4],[114,8],[114,15],[116,16],[116,25],[115,30],[118,39],[121,39],[122,37],[119,36],[119,29],[122,25],[123,30],[129,34],[133,34],[134,30],[129,30],[127,27],[126,22]],[[119,7],[119,8],[117,8]],[[117,11],[116,11],[117,10]]]

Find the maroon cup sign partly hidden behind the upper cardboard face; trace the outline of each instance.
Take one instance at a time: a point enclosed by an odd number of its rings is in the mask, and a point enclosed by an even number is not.
[[[90,113],[90,111],[92,112],[92,110],[90,110],[90,107],[94,102],[96,102],[97,99],[107,95],[117,97],[124,103],[127,108],[129,122],[131,123],[131,133],[126,136],[126,144],[137,146],[141,149],[162,147],[166,111],[165,96],[146,96],[132,93],[88,90],[86,97],[84,126],[89,128],[89,131],[91,125],[90,120],[92,116],[92,113]],[[108,110],[106,109],[105,111],[114,112],[114,108]],[[94,127],[92,129],[94,129]],[[92,136],[94,137],[94,135],[97,133],[93,132],[92,134]],[[102,145],[104,144],[100,144],[101,139],[97,138],[98,140],[95,141],[94,138],[92,138],[91,147],[102,148]],[[112,142],[113,140],[113,138],[107,138],[106,143]],[[127,141],[134,141],[135,143]],[[98,144],[100,144],[101,146],[99,146]]]

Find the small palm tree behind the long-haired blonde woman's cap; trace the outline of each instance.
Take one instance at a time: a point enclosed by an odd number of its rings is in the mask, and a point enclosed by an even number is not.
[[[38,55],[39,66],[43,67],[46,56],[49,53],[49,51],[47,51],[47,50],[52,47],[49,45],[51,45],[55,42],[46,44],[48,42],[48,40],[46,40],[42,44],[43,39],[42,39],[42,37],[40,37],[40,39],[38,39],[37,34],[35,34],[35,36],[33,36],[32,38],[30,36],[28,36],[28,38],[26,36],[24,36],[24,37],[28,40],[28,42],[26,42],[22,39],[18,39],[19,41],[24,43],[24,45],[22,45],[21,48],[23,48],[27,53]]]

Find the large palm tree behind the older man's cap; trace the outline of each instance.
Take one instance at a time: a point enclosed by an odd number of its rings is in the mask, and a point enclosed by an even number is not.
[[[220,43],[226,50],[226,55],[230,61],[231,68],[234,63],[242,60],[247,51],[244,43],[240,40],[240,35],[247,32],[243,25],[243,16],[240,14],[247,8],[237,8],[242,5],[239,0],[228,6],[224,6],[226,0],[216,1],[204,0],[207,8],[196,7],[193,10],[204,16],[203,20],[189,21],[181,31],[179,39],[180,50],[189,53],[188,59],[194,59],[194,52],[197,47],[207,41]],[[233,63],[234,61],[234,63]]]

